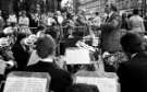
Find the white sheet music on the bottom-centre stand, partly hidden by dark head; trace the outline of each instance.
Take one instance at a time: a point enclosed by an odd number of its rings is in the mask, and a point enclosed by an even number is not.
[[[76,77],[76,83],[95,84],[100,92],[118,92],[118,82],[114,78]]]

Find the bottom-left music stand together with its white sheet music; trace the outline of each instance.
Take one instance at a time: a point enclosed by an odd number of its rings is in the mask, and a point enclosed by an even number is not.
[[[3,92],[49,92],[50,80],[46,72],[15,71],[8,76]]]

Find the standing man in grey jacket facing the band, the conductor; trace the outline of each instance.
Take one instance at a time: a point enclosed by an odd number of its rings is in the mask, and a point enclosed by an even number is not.
[[[113,3],[106,5],[105,9],[108,14],[105,24],[101,24],[101,48],[103,51],[114,53],[121,50],[120,45],[120,16],[118,9]]]

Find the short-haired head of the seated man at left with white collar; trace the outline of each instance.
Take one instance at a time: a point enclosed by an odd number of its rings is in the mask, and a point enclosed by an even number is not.
[[[40,58],[47,58],[56,51],[56,42],[50,35],[45,35],[36,42],[37,55]]]

